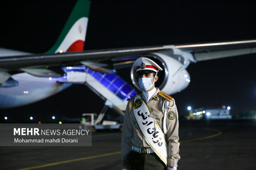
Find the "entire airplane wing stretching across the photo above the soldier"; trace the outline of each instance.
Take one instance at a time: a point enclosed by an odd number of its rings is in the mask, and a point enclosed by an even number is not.
[[[138,57],[143,54],[168,49],[173,51],[175,51],[175,49],[179,49],[181,51],[191,53],[194,57],[194,61],[192,58],[190,58],[190,61],[197,62],[256,53],[256,40],[100,49],[25,56],[6,56],[0,57],[0,71],[17,70],[27,67],[78,65],[81,63],[86,63],[86,61],[100,63],[124,57],[125,58],[123,60],[130,61],[133,60],[135,56]],[[175,54],[175,52],[173,54]],[[111,62],[114,64],[113,60]],[[126,62],[121,62],[121,64],[125,65]]]

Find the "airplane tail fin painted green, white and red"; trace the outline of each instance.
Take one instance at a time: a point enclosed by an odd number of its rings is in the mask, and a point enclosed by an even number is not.
[[[57,41],[46,53],[83,51],[90,1],[78,0]]]

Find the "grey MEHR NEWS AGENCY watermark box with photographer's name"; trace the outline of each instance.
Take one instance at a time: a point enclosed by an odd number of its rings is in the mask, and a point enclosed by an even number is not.
[[[92,146],[91,126],[67,124],[0,124],[0,146]]]

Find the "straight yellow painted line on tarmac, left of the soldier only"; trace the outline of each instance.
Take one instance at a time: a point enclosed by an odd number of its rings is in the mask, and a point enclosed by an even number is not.
[[[89,156],[89,157],[85,157],[85,158],[78,158],[78,159],[71,159],[71,160],[67,160],[67,161],[49,163],[49,164],[45,164],[45,165],[39,165],[39,166],[33,166],[33,167],[29,167],[29,168],[23,168],[23,169],[19,169],[19,170],[31,170],[31,169],[36,169],[36,168],[43,168],[43,167],[52,166],[52,165],[59,165],[59,164],[62,164],[62,163],[69,163],[69,162],[74,162],[74,161],[81,161],[81,160],[86,160],[86,159],[99,158],[99,157],[109,156],[109,155],[114,155],[114,154],[121,154],[121,151],[112,152],[112,153],[109,153],[109,154]]]

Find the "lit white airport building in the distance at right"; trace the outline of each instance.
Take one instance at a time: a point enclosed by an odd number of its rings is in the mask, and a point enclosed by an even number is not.
[[[230,107],[199,108],[190,110],[190,119],[231,119]]]

